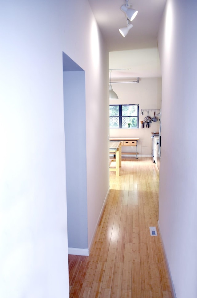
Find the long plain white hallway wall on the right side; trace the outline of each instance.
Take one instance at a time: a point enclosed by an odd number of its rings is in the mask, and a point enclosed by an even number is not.
[[[159,224],[177,298],[197,297],[196,10],[167,0],[159,31],[162,152]]]

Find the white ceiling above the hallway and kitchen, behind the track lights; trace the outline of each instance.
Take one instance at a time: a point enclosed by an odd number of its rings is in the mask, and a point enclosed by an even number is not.
[[[138,14],[126,37],[119,28],[127,26],[120,6],[125,0],[88,0],[110,51],[111,81],[160,77],[157,34],[166,0],[129,0]]]

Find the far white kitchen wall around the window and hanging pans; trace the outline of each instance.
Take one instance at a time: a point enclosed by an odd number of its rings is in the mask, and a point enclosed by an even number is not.
[[[118,95],[118,100],[110,100],[110,104],[139,104],[139,127],[140,121],[147,116],[147,112],[141,115],[140,109],[161,108],[161,78],[141,78],[139,83],[112,84],[113,90]],[[156,111],[155,115],[159,113]],[[154,111],[149,112],[154,116]],[[157,122],[150,123],[143,129],[110,129],[110,137],[136,137],[138,141],[138,152],[141,156],[151,156],[151,132],[159,132],[159,116]],[[129,148],[123,147],[123,152]],[[131,150],[131,148],[130,148]],[[126,151],[126,152],[127,152]]]

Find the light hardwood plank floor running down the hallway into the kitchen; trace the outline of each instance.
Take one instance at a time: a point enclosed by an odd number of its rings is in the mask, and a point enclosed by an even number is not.
[[[171,298],[157,227],[159,171],[149,157],[123,157],[89,257],[69,255],[70,298]],[[158,236],[151,236],[156,227]]]

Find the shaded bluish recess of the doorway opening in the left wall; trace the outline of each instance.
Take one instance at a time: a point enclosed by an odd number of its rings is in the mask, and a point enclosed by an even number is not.
[[[85,71],[63,52],[68,253],[89,255]]]

